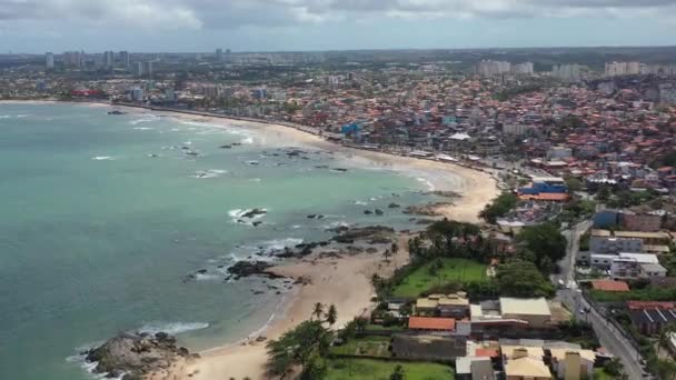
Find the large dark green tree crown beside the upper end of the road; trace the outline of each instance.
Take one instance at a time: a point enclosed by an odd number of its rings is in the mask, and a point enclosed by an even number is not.
[[[545,273],[550,272],[553,263],[566,257],[568,242],[554,223],[525,228],[516,240],[535,253],[535,263]]]

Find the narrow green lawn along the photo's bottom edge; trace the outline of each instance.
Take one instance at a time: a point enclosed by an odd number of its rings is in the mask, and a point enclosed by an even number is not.
[[[388,380],[397,364],[404,367],[406,380],[454,380],[455,378],[450,367],[436,363],[329,359],[327,380]]]

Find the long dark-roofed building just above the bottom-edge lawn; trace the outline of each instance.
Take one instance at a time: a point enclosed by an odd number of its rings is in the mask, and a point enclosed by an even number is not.
[[[392,357],[395,358],[451,362],[466,354],[466,337],[405,334],[392,337]]]

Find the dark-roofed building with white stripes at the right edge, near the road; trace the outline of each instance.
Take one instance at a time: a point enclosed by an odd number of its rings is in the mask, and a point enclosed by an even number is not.
[[[676,323],[675,302],[628,301],[632,323],[647,336],[657,334],[665,326]]]

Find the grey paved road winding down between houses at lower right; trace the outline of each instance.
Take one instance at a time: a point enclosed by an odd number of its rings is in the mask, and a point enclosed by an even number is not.
[[[640,354],[634,346],[618,331],[608,318],[603,316],[592,304],[589,304],[575,283],[575,260],[579,251],[579,239],[592,226],[590,221],[581,222],[571,230],[564,231],[568,239],[566,257],[559,262],[560,273],[553,274],[551,281],[558,286],[561,280],[566,289],[559,289],[556,300],[564,303],[568,310],[575,313],[576,318],[592,323],[600,344],[609,352],[618,357],[625,366],[625,372],[629,379],[643,379],[643,368],[640,367]],[[589,312],[584,312],[589,310]],[[583,311],[583,312],[580,312]]]

